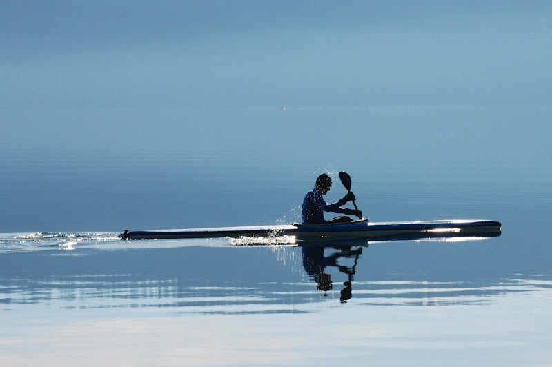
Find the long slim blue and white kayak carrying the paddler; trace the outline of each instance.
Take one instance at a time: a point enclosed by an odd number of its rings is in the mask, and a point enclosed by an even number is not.
[[[295,236],[299,241],[355,239],[421,234],[500,234],[500,222],[487,220],[397,221],[373,223],[368,219],[346,223],[284,224],[275,226],[245,226],[220,228],[191,228],[177,230],[125,231],[122,239],[178,239],[214,237],[275,237]]]

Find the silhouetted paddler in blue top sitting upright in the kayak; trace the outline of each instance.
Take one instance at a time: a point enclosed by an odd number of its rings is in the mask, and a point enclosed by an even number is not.
[[[348,201],[354,200],[355,195],[353,192],[348,192],[343,199],[337,201],[334,204],[326,204],[322,195],[326,195],[332,186],[332,179],[323,173],[319,175],[316,179],[315,188],[312,191],[308,192],[305,198],[303,199],[302,206],[302,216],[303,224],[324,224],[324,223],[335,223],[335,222],[346,222],[351,221],[351,218],[342,216],[330,219],[326,221],[324,219],[324,212],[335,212],[343,213],[346,215],[355,215],[359,218],[362,218],[362,212],[360,210],[340,208],[340,206],[345,205]]]

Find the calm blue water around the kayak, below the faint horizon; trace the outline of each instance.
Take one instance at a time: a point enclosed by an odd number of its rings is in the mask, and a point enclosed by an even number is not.
[[[550,109],[43,113],[66,128],[1,148],[3,366],[552,363]],[[119,131],[128,114],[136,130]],[[79,119],[97,129],[72,137]],[[339,170],[371,221],[491,219],[502,234],[315,253],[117,237],[297,221],[320,173],[334,177],[328,201],[345,195]]]

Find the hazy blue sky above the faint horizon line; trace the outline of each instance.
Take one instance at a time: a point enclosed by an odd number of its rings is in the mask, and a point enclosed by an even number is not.
[[[1,1],[0,106],[548,106],[550,1]]]

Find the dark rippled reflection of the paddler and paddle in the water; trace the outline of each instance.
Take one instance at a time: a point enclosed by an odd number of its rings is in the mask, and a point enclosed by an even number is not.
[[[362,254],[362,247],[356,250],[351,250],[351,247],[336,248],[337,252],[334,252],[328,257],[324,257],[325,246],[303,246],[303,267],[305,272],[313,277],[313,280],[317,283],[316,288],[326,292],[333,288],[331,276],[324,272],[326,266],[335,266],[340,272],[348,275],[348,280],[344,282],[345,288],[341,291],[341,297],[339,298],[342,303],[351,299],[352,297],[352,281],[355,274],[355,267],[360,254]],[[340,258],[355,257],[353,266],[342,266],[337,264]]]

